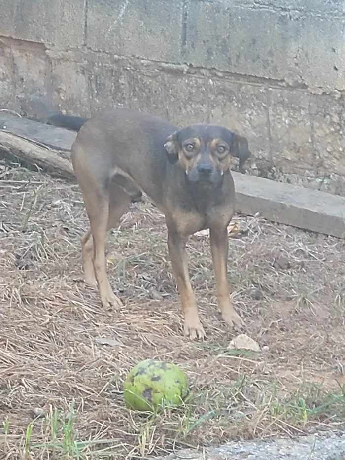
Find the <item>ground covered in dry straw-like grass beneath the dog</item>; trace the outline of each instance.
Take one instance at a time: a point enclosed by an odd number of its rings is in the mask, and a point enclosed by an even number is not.
[[[0,164],[3,458],[141,458],[344,424],[345,241],[259,217],[234,223],[232,299],[257,354],[227,350],[237,332],[216,311],[207,235],[188,244],[207,333],[191,342],[157,209],[132,204],[109,235],[109,277],[124,306],[104,309],[83,283],[88,222],[77,186]],[[188,373],[184,407],[150,417],[126,409],[126,373],[148,357]]]

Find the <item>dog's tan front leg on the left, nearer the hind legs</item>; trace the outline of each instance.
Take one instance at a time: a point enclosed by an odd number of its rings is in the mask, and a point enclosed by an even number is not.
[[[192,340],[203,339],[205,332],[199,319],[198,305],[193,293],[188,274],[187,238],[180,235],[175,228],[168,227],[168,249],[181,297],[184,316],[184,334]]]

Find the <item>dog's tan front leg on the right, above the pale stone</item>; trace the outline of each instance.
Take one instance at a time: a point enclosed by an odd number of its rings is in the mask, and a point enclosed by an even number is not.
[[[228,283],[228,229],[210,228],[209,230],[211,253],[216,280],[216,291],[219,310],[224,321],[232,327],[234,324],[243,326],[242,318],[236,313],[230,300],[230,289]]]

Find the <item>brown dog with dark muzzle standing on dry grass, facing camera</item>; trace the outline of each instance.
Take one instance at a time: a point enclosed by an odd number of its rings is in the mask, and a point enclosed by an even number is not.
[[[250,155],[245,138],[209,124],[179,129],[156,116],[120,108],[87,121],[80,118],[79,124],[78,117],[65,115],[53,115],[50,122],[80,128],[71,159],[91,227],[81,238],[82,263],[85,281],[98,285],[102,304],[121,305],[107,277],[106,232],[118,223],[133,190],[141,190],[165,215],[185,335],[205,336],[185,246],[189,236],[207,228],[219,310],[229,326],[243,325],[229,297],[227,227],[235,205],[231,156]]]

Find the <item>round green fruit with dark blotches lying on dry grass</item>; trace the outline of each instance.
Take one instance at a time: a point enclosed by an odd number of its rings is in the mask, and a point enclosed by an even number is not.
[[[163,404],[178,405],[188,395],[186,374],[176,364],[146,359],[128,373],[124,398],[131,409],[154,411]]]

